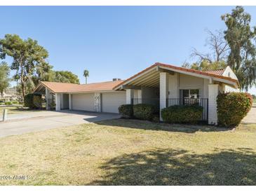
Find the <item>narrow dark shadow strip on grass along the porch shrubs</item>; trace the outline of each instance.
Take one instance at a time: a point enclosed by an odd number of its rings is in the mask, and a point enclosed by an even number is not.
[[[186,132],[194,133],[201,132],[223,132],[230,131],[228,128],[220,128],[211,125],[186,125],[186,124],[167,124],[167,123],[152,123],[150,121],[134,120],[134,119],[115,119],[107,121],[95,122],[98,125],[109,125],[123,128],[133,128],[140,130],[161,130],[170,132]]]

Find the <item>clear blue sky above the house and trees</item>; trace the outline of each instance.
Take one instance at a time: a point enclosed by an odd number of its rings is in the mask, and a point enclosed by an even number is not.
[[[0,38],[39,41],[55,70],[84,83],[128,78],[155,62],[180,66],[191,48],[208,51],[206,29],[225,29],[220,15],[234,6],[0,7]],[[256,7],[245,7],[256,25]],[[251,93],[256,94],[252,88]]]

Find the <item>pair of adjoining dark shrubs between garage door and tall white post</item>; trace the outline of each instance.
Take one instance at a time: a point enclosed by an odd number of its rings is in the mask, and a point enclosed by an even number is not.
[[[137,118],[151,121],[156,113],[156,107],[151,104],[123,104],[119,107],[119,114],[123,118]]]

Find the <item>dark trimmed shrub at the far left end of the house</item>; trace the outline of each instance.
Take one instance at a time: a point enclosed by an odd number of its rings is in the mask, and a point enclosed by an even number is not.
[[[29,93],[24,97],[25,107],[29,107],[29,109],[41,109],[42,103],[41,94]]]

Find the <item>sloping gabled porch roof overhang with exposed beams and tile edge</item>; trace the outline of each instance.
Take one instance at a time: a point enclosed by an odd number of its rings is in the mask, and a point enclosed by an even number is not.
[[[238,80],[234,78],[230,78],[227,76],[222,76],[218,74],[212,74],[206,71],[198,71],[195,69],[187,69],[184,67],[176,67],[170,64],[163,64],[163,63],[155,63],[140,71],[139,73],[131,76],[130,78],[126,79],[119,85],[114,87],[114,90],[123,90],[123,89],[140,89],[141,87],[149,87],[149,88],[159,88],[160,84],[160,72],[166,72],[168,74],[180,73],[180,74],[187,74],[190,76],[196,76],[199,78],[207,78],[210,80],[210,83],[220,82],[227,85],[231,85],[234,88],[239,88]]]

